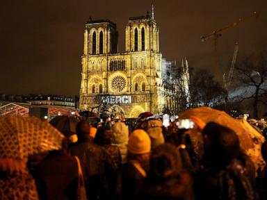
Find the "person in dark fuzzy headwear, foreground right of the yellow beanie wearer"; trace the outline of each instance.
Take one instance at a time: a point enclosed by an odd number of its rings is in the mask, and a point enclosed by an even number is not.
[[[138,199],[193,199],[193,179],[183,172],[179,151],[161,144],[150,156],[150,167]]]

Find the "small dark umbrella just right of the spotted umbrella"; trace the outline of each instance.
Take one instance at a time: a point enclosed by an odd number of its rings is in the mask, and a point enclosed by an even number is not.
[[[54,117],[49,123],[66,137],[76,134],[76,126],[79,120],[67,115]]]

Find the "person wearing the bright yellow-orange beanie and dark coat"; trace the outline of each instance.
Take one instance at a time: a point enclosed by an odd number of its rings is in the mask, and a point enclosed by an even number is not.
[[[138,186],[145,180],[149,165],[151,140],[142,129],[136,129],[131,133],[128,142],[128,162],[120,169],[121,199],[136,199]]]

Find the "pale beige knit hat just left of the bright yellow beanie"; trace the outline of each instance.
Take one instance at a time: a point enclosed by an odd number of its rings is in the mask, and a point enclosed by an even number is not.
[[[127,144],[129,138],[129,130],[127,126],[123,122],[117,122],[112,127],[112,131],[114,134],[113,143],[120,144],[125,143]]]

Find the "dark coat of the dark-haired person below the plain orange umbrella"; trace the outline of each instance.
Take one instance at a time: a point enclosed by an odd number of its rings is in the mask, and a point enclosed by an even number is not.
[[[245,175],[245,168],[238,160],[227,167],[211,167],[197,174],[195,178],[196,199],[252,200],[257,197]]]

